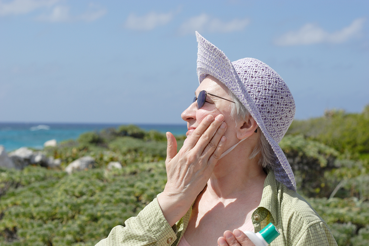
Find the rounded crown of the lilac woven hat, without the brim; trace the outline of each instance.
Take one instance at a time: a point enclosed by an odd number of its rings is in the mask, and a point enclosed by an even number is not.
[[[292,123],[296,111],[287,84],[260,60],[244,58],[232,62],[232,65],[255,102],[269,135],[279,143]]]

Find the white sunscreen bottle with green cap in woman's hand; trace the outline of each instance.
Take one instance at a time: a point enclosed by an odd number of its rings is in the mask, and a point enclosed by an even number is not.
[[[260,232],[245,231],[244,233],[256,246],[268,246],[280,235],[280,232],[272,223],[269,223]]]

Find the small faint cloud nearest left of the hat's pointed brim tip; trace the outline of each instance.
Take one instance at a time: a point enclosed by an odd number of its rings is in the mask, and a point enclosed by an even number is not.
[[[137,16],[136,14],[131,13],[128,16],[127,21],[125,21],[124,27],[131,30],[149,31],[159,25],[168,24],[173,17],[173,12],[166,14],[150,12],[144,16]]]

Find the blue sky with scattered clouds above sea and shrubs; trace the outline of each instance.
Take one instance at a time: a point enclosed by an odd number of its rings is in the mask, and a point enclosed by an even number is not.
[[[0,121],[182,123],[199,31],[279,73],[296,119],[369,104],[369,1],[0,0]]]

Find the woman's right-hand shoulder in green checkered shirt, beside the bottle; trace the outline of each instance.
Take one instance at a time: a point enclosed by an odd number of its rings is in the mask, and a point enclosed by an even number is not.
[[[315,209],[300,194],[278,182],[272,171],[264,184],[262,204],[272,216],[273,224],[281,230],[282,236],[276,240],[280,245],[299,245],[310,240],[327,245],[327,239],[333,238]]]

